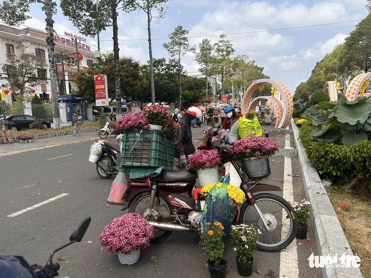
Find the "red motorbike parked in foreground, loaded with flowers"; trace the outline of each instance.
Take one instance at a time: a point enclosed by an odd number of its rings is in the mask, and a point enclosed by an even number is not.
[[[205,148],[212,146],[210,138],[217,133],[217,126],[211,128]],[[266,193],[282,191],[281,188],[260,183],[262,179],[250,180],[243,167],[234,161],[233,146],[221,145],[215,149],[221,154],[230,183],[240,185],[246,196],[234,223],[260,228],[262,233],[256,247],[261,251],[286,248],[297,231],[295,212],[284,198]],[[198,231],[205,198],[201,187],[195,186],[197,178],[195,171],[163,169],[155,177],[129,179],[122,197],[125,199],[122,210],[128,209],[148,219],[155,229],[153,244],[165,240],[172,231]]]

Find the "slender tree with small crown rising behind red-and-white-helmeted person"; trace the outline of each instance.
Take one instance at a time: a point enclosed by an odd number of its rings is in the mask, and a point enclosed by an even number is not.
[[[187,35],[189,30],[183,29],[183,26],[178,25],[175,30],[169,34],[170,42],[163,44],[163,47],[169,52],[171,57],[176,57],[178,60],[178,66],[180,68],[181,59],[180,57],[189,52],[194,53],[196,50],[195,46],[190,45],[188,42]],[[181,102],[181,71],[179,71],[179,109],[182,109]]]

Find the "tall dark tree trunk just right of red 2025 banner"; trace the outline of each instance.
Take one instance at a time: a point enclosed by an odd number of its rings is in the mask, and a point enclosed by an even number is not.
[[[118,26],[117,26],[117,12],[116,2],[112,1],[112,27],[113,27],[113,57],[115,61],[115,89],[116,89],[116,120],[121,118],[121,84],[120,84],[120,55],[118,48]]]

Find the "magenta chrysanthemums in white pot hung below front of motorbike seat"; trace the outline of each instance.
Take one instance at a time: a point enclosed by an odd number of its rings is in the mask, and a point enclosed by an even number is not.
[[[187,161],[187,168],[196,170],[201,186],[219,181],[218,165],[222,158],[218,151],[201,150],[191,155]]]

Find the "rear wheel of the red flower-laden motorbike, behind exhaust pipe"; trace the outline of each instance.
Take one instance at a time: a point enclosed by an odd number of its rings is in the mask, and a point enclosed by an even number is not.
[[[148,194],[149,193],[149,194]],[[149,197],[150,192],[142,192],[141,194],[135,196],[135,198],[130,202],[129,205],[129,213],[137,213],[139,215],[144,216],[144,213],[147,210],[149,204]],[[156,193],[156,198],[153,202],[153,211],[156,215],[172,215],[172,211],[170,210],[170,204],[167,199],[161,195],[160,193]],[[151,244],[157,244],[171,234],[171,231],[163,231],[163,230],[154,230],[153,238],[149,239]]]

